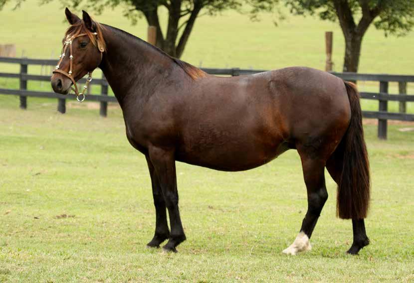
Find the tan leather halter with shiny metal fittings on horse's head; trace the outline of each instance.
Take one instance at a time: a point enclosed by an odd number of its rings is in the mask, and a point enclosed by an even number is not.
[[[82,92],[79,93],[78,87],[76,85],[76,81],[72,77],[72,61],[73,61],[72,42],[73,42],[73,40],[75,38],[80,37],[80,36],[83,36],[83,35],[87,35],[87,33],[86,32],[85,33],[80,33],[80,29],[79,29],[72,36],[69,36],[68,35],[66,37],[65,44],[63,45],[63,48],[62,48],[62,54],[59,56],[59,58],[60,58],[59,59],[59,62],[57,62],[57,65],[56,65],[55,69],[53,70],[53,73],[60,73],[60,74],[62,74],[64,76],[68,77],[72,81],[73,86],[74,86],[74,87],[72,87],[72,90],[75,92],[75,94],[76,94],[76,100],[79,101],[79,102],[82,102],[82,101],[85,100],[85,91],[88,88],[89,83],[92,81],[92,72],[93,72],[93,71],[88,72],[88,77],[86,79],[86,83],[85,83],[85,85],[83,87]],[[93,35],[98,36],[98,33],[94,32]],[[101,52],[101,61],[102,61],[102,53],[104,52],[104,48],[102,47],[102,44],[100,43],[99,38],[97,38],[97,45],[98,45],[99,52]],[[70,65],[69,66],[70,67],[69,67],[69,73],[66,73],[63,70],[60,70],[59,67],[60,67],[60,64],[62,63],[63,59],[65,58],[65,54],[66,54],[66,50],[67,50],[67,47],[68,46],[69,46],[69,52],[70,52],[69,53],[69,62],[70,62]],[[82,99],[79,99],[79,97],[82,97]]]

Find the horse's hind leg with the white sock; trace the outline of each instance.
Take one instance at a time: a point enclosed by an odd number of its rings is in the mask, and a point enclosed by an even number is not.
[[[284,254],[296,255],[299,252],[311,250],[310,237],[318,221],[322,208],[328,199],[325,186],[325,161],[310,157],[298,148],[302,161],[303,177],[308,195],[308,210],[302,222],[302,227],[295,241],[283,250]]]

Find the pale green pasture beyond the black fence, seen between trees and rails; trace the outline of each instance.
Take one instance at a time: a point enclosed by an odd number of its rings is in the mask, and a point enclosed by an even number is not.
[[[39,5],[37,0],[26,0],[12,11],[11,4],[0,11],[0,43],[15,43],[17,56],[29,58],[58,58],[61,39],[68,27],[64,11],[58,1]],[[161,11],[163,26],[166,12]],[[335,71],[342,71],[344,39],[338,23],[321,21],[315,17],[299,17],[284,11],[286,20],[275,27],[274,15],[263,13],[260,21],[252,22],[247,15],[226,11],[216,17],[197,19],[183,60],[195,65],[212,68],[278,69],[288,66],[325,68],[325,31],[334,32],[333,62]],[[91,12],[93,15],[93,12]],[[103,23],[124,29],[143,39],[147,38],[144,19],[132,26],[123,17],[122,9],[107,9],[95,18]],[[81,12],[78,13],[81,15]],[[414,32],[405,37],[385,37],[382,31],[371,27],[362,46],[361,73],[414,74]],[[1,72],[19,72],[19,65],[0,63]],[[28,73],[40,74],[40,66],[29,66]],[[43,69],[49,74],[51,67]],[[100,70],[94,78],[100,77]],[[0,87],[18,89],[17,79],[0,78]],[[378,92],[378,82],[359,82],[361,91]],[[28,82],[29,90],[50,91],[47,82]],[[92,93],[100,88],[92,87]],[[390,93],[398,93],[398,85],[390,83]],[[414,84],[408,84],[408,93],[414,94]],[[12,98],[1,98],[10,100]],[[28,100],[29,107],[32,99]],[[34,99],[33,101],[38,101]],[[42,101],[42,100],[40,100]],[[47,100],[46,100],[47,101]],[[378,102],[363,100],[362,107],[378,111]],[[53,105],[51,110],[54,110]],[[389,102],[389,111],[398,112],[398,102]],[[413,103],[407,104],[408,113],[414,113]]]

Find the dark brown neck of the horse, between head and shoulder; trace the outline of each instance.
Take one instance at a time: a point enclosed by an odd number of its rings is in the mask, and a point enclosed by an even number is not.
[[[105,25],[103,37],[106,51],[99,67],[121,107],[153,94],[177,68],[168,55],[113,27]]]

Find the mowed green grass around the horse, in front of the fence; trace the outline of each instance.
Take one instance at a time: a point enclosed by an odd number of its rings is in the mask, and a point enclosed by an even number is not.
[[[121,112],[110,108],[100,118],[87,105],[60,115],[50,100],[34,99],[26,111],[0,101],[0,282],[414,280],[414,132],[399,131],[412,125],[390,125],[388,141],[365,127],[371,245],[359,256],[345,254],[352,226],[335,217],[328,174],[312,251],[281,254],[307,207],[293,150],[245,172],[178,163],[188,240],[165,254],[145,247],[155,226],[150,178],[125,138]]]

